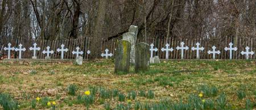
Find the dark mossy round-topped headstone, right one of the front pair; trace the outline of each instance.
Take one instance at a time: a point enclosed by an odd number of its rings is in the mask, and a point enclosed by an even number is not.
[[[135,72],[146,72],[150,64],[150,46],[147,43],[135,45]]]

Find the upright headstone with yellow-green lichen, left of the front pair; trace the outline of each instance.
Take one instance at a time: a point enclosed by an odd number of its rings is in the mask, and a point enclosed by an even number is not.
[[[129,73],[131,43],[126,40],[117,42],[115,51],[115,73]]]

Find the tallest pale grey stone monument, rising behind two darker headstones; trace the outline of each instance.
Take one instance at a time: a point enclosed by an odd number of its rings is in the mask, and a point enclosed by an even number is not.
[[[135,63],[135,43],[137,40],[137,35],[138,35],[138,27],[135,25],[131,25],[129,28],[128,33],[123,34],[123,39],[127,40],[131,43],[131,54],[130,54],[130,63],[134,64]]]

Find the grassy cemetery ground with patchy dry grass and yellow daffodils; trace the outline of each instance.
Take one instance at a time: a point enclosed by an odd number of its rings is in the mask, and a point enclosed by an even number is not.
[[[0,63],[0,109],[255,109],[255,60],[168,60],[115,74],[113,60]],[[10,97],[9,97],[10,95]],[[5,103],[3,103],[5,102]]]

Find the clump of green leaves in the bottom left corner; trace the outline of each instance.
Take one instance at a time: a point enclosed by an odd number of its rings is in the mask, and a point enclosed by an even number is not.
[[[18,109],[18,102],[16,102],[9,94],[0,94],[0,105],[4,110]]]

